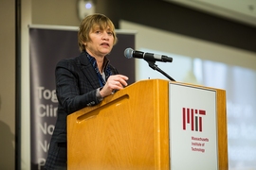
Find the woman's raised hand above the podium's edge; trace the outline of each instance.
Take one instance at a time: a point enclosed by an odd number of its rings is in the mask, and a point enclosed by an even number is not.
[[[125,86],[128,85],[126,82],[127,80],[128,80],[128,77],[123,75],[109,76],[106,84],[100,91],[101,97],[110,95],[115,90],[123,89]]]

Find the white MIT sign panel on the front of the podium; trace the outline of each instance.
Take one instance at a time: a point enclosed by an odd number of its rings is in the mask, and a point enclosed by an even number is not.
[[[218,169],[216,91],[170,83],[169,103],[171,169]]]

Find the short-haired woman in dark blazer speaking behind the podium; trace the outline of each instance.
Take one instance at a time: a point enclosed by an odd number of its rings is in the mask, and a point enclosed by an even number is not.
[[[87,106],[97,105],[115,90],[127,86],[127,76],[105,57],[117,43],[115,26],[103,14],[86,16],[78,32],[80,56],[62,59],[56,65],[58,117],[49,145],[46,170],[66,169],[66,116]]]

